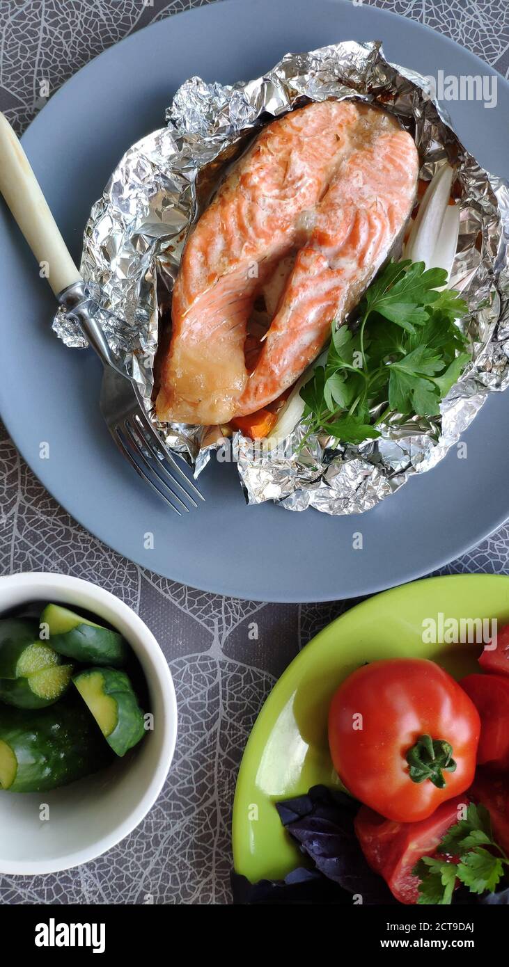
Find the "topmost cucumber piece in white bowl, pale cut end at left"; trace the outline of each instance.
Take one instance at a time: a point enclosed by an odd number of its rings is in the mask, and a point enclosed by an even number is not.
[[[118,631],[87,621],[60,604],[47,604],[41,624],[49,630],[51,647],[60,655],[88,664],[124,665],[127,645]]]

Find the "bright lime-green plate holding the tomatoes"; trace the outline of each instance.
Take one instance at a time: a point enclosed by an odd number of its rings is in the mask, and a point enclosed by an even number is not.
[[[286,668],[265,702],[242,759],[233,805],[233,862],[255,883],[282,879],[302,855],[284,832],[275,802],[316,783],[341,783],[327,743],[334,691],[365,661],[434,659],[455,678],[477,668],[481,645],[425,644],[423,622],[497,618],[509,622],[509,577],[433,577],[363,601],[320,631]]]

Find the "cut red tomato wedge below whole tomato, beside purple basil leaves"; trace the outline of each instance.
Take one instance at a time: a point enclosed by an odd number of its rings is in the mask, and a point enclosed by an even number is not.
[[[419,823],[394,823],[368,806],[359,809],[355,832],[362,851],[400,903],[417,903],[419,880],[412,869],[421,857],[436,855],[440,839],[458,822],[459,808],[467,802],[466,796],[450,799]]]

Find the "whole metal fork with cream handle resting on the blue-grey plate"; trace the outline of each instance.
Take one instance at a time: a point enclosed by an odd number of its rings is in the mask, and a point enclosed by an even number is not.
[[[189,513],[191,507],[198,506],[195,497],[204,497],[151,424],[135,380],[117,365],[97,319],[99,306],[81,278],[30,163],[2,113],[0,191],[57,301],[77,320],[103,363],[100,407],[116,447],[172,511],[179,516]]]

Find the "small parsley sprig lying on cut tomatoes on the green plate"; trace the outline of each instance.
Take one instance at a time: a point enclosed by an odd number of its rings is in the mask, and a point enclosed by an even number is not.
[[[488,809],[473,803],[467,807],[465,819],[442,837],[437,853],[423,857],[413,868],[420,879],[418,903],[451,903],[458,880],[472,894],[493,893],[509,865],[494,841]]]

